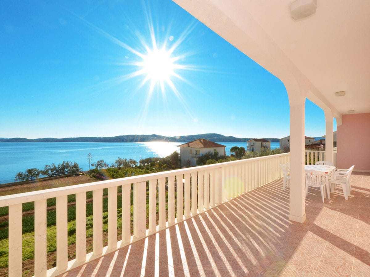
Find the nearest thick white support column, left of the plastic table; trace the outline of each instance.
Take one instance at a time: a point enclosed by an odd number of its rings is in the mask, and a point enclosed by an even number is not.
[[[305,102],[300,92],[290,92],[290,190],[289,220],[303,223],[305,211]]]

